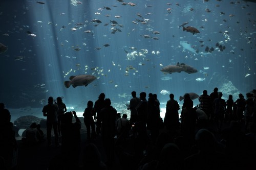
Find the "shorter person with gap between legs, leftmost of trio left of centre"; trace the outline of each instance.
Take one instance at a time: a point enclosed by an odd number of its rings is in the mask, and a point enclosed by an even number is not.
[[[93,102],[88,101],[87,108],[84,109],[83,112],[83,122],[86,125],[87,129],[87,139],[95,138],[95,120],[96,120],[96,112],[93,108]],[[91,136],[91,127],[92,127],[92,136]]]

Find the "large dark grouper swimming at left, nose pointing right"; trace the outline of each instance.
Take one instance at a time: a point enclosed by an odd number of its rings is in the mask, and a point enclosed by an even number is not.
[[[77,86],[88,86],[88,84],[92,83],[95,79],[95,76],[92,75],[78,75],[78,76],[70,76],[70,81],[65,81],[65,87],[69,88],[71,85],[75,88]]]

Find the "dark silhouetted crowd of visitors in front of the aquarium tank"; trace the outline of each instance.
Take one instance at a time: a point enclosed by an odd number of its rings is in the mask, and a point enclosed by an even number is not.
[[[210,95],[199,96],[196,107],[185,93],[180,105],[169,94],[164,119],[160,117],[157,94],[132,92],[127,114],[117,113],[111,100],[101,93],[94,103],[88,101],[83,113],[87,144],[81,143],[81,122],[75,111],[67,112],[60,97],[49,97],[42,112],[47,117],[47,143],[61,154],[49,169],[254,169],[256,160],[256,90],[239,94],[237,101],[229,95],[222,99],[216,87]],[[11,169],[12,153],[17,143],[10,122],[10,112],[0,104],[0,169]],[[75,122],[72,122],[75,117]],[[96,140],[103,144],[105,161]],[[61,141],[61,143],[60,143]],[[44,133],[35,123],[26,130],[26,144],[44,142]],[[83,148],[83,149],[82,149]],[[79,164],[79,157],[82,165]],[[115,166],[119,164],[119,168]]]

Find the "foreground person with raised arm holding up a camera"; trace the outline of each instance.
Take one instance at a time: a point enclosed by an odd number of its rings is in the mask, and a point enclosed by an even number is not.
[[[76,122],[72,123],[73,115]],[[61,116],[61,153],[70,158],[72,162],[79,160],[80,143],[81,143],[81,122],[76,115],[76,112],[67,112]]]

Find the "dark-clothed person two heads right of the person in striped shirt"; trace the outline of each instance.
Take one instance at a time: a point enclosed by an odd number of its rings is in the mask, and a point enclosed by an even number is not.
[[[217,131],[221,130],[222,122],[224,120],[224,113],[226,112],[226,102],[222,98],[222,92],[219,92],[219,98],[214,100],[214,114],[217,123]]]

